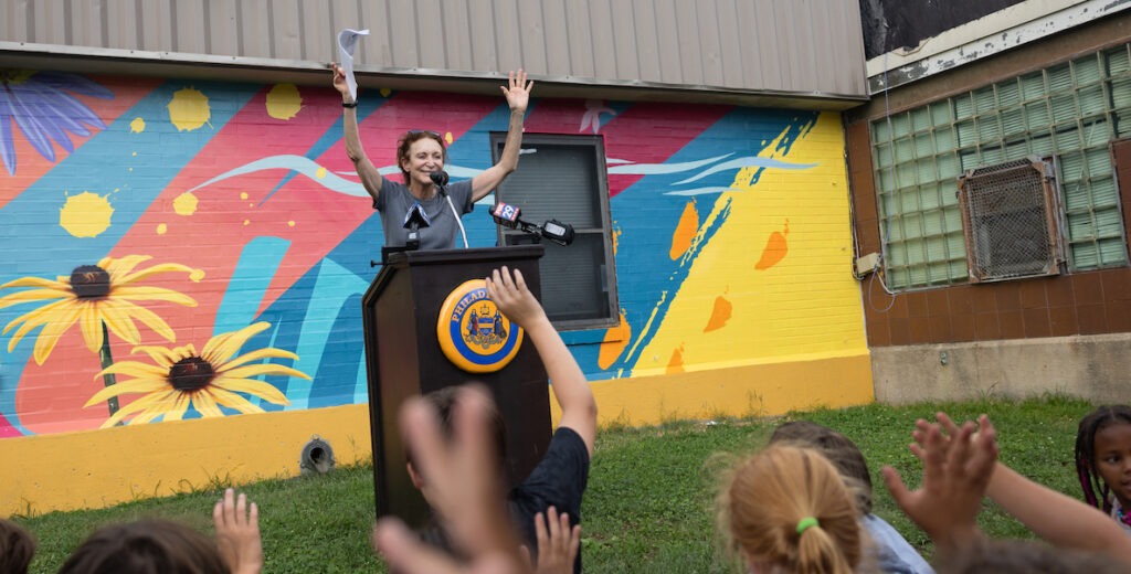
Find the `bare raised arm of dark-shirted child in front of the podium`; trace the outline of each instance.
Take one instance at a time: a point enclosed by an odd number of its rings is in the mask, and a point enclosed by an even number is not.
[[[523,272],[495,269],[486,278],[487,296],[499,306],[507,319],[526,330],[527,337],[538,349],[542,364],[550,376],[554,398],[562,408],[562,419],[558,425],[573,429],[593,455],[593,443],[597,436],[597,401],[593,398],[589,383],[581,373],[566,342],[550,323],[545,310],[526,287]]]

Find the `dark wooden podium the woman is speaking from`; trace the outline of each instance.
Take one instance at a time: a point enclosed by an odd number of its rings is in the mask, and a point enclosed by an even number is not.
[[[378,516],[392,514],[416,525],[428,514],[405,469],[397,423],[397,411],[409,397],[482,383],[507,423],[508,484],[525,479],[542,460],[550,444],[550,394],[534,343],[524,337],[517,354],[500,371],[468,373],[444,356],[437,336],[440,307],[448,295],[502,266],[520,270],[539,297],[542,253],[542,245],[392,253],[365,292],[362,319]]]

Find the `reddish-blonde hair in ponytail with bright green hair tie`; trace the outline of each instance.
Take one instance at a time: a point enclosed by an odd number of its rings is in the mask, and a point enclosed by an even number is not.
[[[718,530],[736,557],[801,574],[860,565],[853,494],[814,450],[771,444],[733,469],[717,504]]]

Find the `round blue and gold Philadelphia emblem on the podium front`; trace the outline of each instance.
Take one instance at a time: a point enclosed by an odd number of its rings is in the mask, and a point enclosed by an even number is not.
[[[501,369],[523,345],[523,329],[499,312],[483,279],[465,281],[448,294],[435,334],[448,360],[468,373]]]

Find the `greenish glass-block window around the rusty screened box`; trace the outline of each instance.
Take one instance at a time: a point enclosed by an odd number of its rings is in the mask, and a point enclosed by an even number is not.
[[[1131,44],[891,114],[871,128],[890,287],[972,280],[957,179],[1030,156],[1054,166],[1052,225],[1063,235],[1067,270],[1128,264],[1110,145],[1131,136]]]

